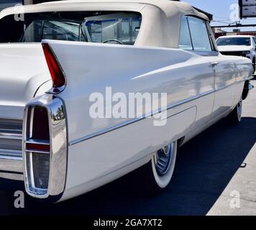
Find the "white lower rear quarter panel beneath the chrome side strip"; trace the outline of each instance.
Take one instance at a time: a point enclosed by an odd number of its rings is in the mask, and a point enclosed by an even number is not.
[[[179,123],[180,119],[184,121],[182,125]],[[92,190],[93,188],[88,184],[106,175],[111,175],[111,180],[119,178],[122,176],[119,173],[122,172],[123,167],[132,165],[138,160],[144,164],[147,163],[150,160],[150,153],[183,137],[195,119],[196,106],[193,106],[170,117],[167,125],[162,129],[155,129],[152,119],[144,119],[125,128],[116,129],[107,135],[70,146],[68,157],[70,165],[68,165],[68,178],[63,199],[83,194],[84,188],[87,191]],[[134,134],[127,135],[129,132]],[[155,137],[153,140],[152,134]],[[115,141],[116,137],[119,138],[119,142]],[[127,143],[132,144],[127,147]],[[98,152],[101,154],[97,154]],[[110,152],[111,154],[108,154]]]

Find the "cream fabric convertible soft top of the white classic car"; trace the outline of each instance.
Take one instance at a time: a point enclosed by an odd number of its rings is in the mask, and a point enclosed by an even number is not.
[[[184,15],[209,20],[190,4],[170,0],[66,0],[14,6],[0,12],[0,19],[12,14],[38,12],[125,11],[140,12],[142,27],[135,45],[178,48],[180,19]]]

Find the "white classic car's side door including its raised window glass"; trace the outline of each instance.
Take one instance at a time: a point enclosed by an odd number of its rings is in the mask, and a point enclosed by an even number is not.
[[[208,22],[188,17],[194,52],[209,59],[214,74],[214,106],[211,119],[230,111],[235,93],[235,72],[232,58],[219,54]]]

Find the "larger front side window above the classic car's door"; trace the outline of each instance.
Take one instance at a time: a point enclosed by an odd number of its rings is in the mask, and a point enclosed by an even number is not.
[[[188,25],[191,32],[193,50],[205,52],[212,51],[206,22],[202,21],[201,19],[188,17]]]

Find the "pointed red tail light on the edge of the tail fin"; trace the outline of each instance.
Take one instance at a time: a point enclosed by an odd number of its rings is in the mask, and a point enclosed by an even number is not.
[[[63,69],[60,67],[50,45],[42,43],[42,50],[44,51],[46,63],[52,77],[53,93],[59,93],[61,91],[60,88],[65,86],[65,75],[63,73]]]

